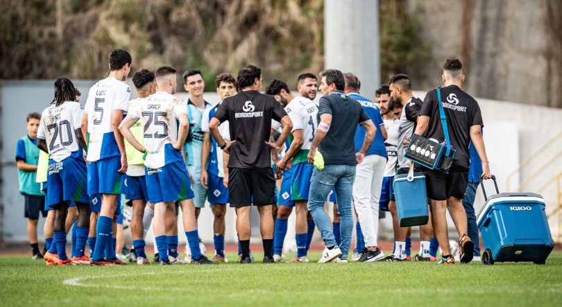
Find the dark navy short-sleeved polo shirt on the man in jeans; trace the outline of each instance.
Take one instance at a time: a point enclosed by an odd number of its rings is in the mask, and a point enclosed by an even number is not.
[[[325,165],[356,165],[355,129],[357,124],[371,121],[361,104],[343,91],[332,91],[320,98],[318,123],[323,114],[332,115],[332,124],[318,150]]]

